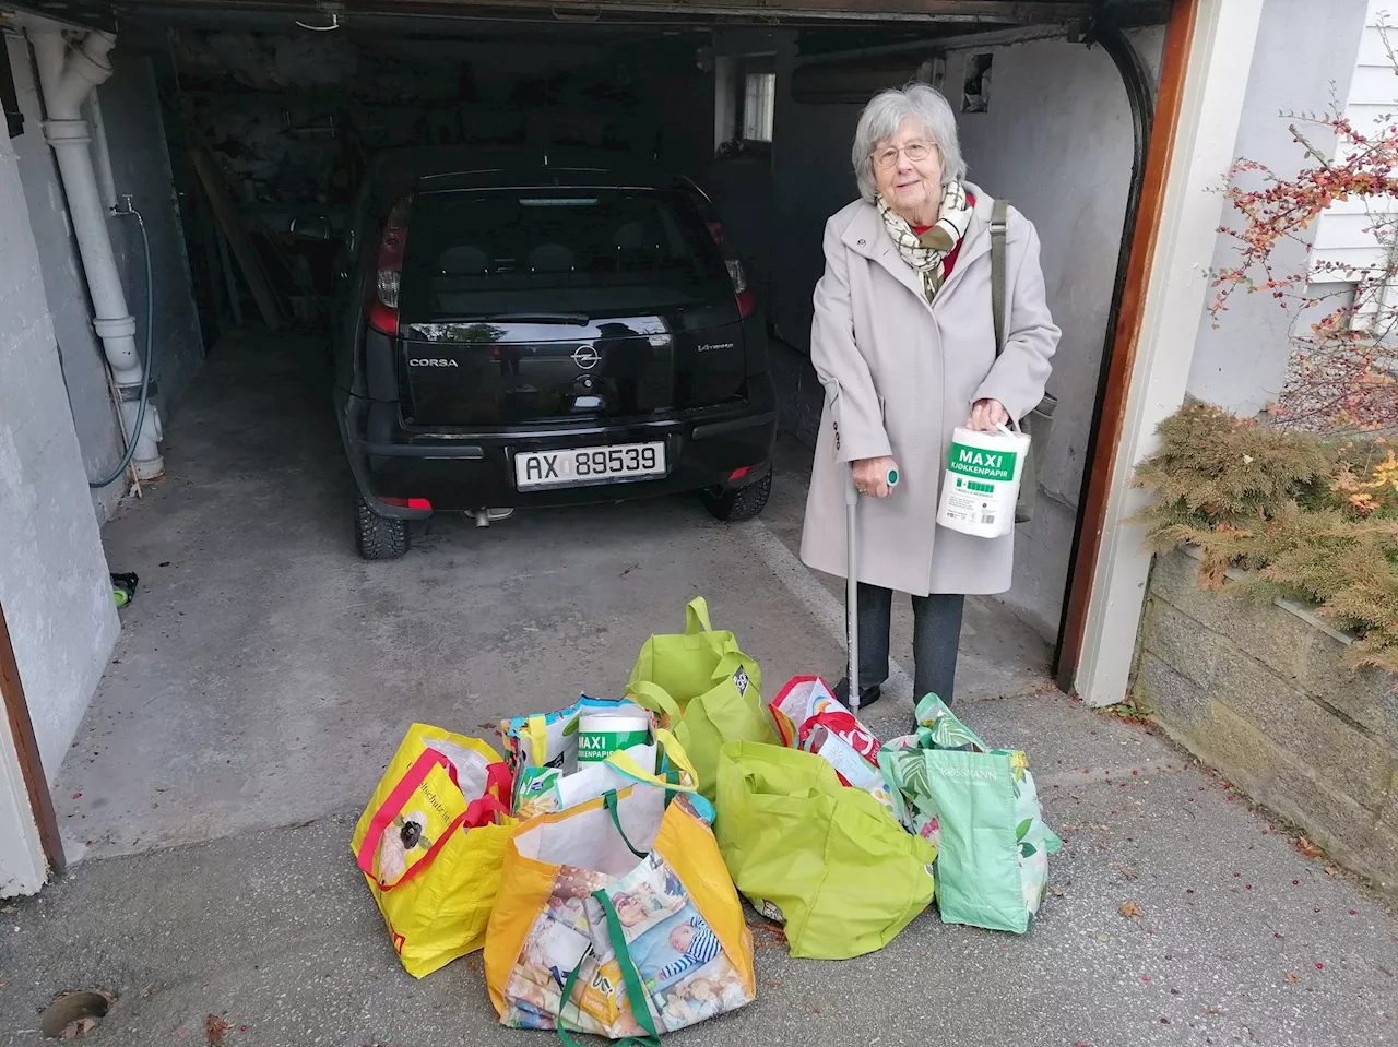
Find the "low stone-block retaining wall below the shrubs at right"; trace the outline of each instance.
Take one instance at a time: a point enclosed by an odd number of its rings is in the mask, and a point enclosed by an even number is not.
[[[1398,691],[1343,665],[1348,639],[1303,608],[1195,584],[1156,561],[1132,693],[1176,741],[1335,858],[1398,895]]]

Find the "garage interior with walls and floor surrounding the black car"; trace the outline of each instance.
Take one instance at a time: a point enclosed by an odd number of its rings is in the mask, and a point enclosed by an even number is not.
[[[175,301],[173,266],[157,268],[168,477],[105,524],[112,570],[140,570],[144,591],[123,611],[117,654],[56,783],[70,854],[352,807],[404,717],[471,730],[524,696],[619,692],[635,647],[678,626],[695,594],[721,628],[754,637],[759,660],[770,654],[769,689],[797,671],[837,674],[842,623],[832,632],[811,611],[816,597],[783,590],[819,417],[811,291],[825,218],[856,192],[860,109],[911,78],[952,101],[970,180],[1008,197],[1044,243],[1064,330],[1050,382],[1058,422],[1015,589],[972,601],[962,675],[969,699],[1051,688],[1144,155],[1142,99],[1120,52],[1153,85],[1166,4],[28,7],[117,34],[117,73],[99,91],[113,138],[123,129],[108,95],[140,84],[158,99],[166,152],[144,169],[117,164],[116,190],[159,214],[161,180],[173,183],[178,205],[154,224],[151,249],[182,256],[189,288]],[[724,528],[688,499],[520,513],[480,533],[433,519],[407,561],[355,558],[323,352],[330,259],[366,159],[421,144],[654,158],[710,193],[773,335],[786,436],[763,523]],[[130,148],[148,158],[152,145]],[[190,348],[166,351],[190,317]],[[70,389],[69,370],[94,363],[66,354]],[[77,421],[96,461],[110,433]],[[910,650],[910,635],[900,608],[895,651]],[[872,725],[902,730],[893,705],[871,710]],[[171,788],[183,794],[176,811],[162,802]]]

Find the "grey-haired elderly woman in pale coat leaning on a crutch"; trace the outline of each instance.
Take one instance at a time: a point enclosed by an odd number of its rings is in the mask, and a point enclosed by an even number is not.
[[[846,575],[844,489],[860,499],[860,702],[888,677],[893,591],[913,597],[916,696],[951,702],[966,594],[1004,593],[1015,538],[937,526],[958,425],[993,431],[1040,401],[1058,328],[1039,236],[1008,212],[1005,344],[991,310],[991,208],[965,180],[956,120],[925,84],[884,91],[854,133],[861,200],[825,225],[811,359],[826,404],[801,558]],[[888,484],[898,468],[899,482]],[[837,688],[847,695],[849,681]]]

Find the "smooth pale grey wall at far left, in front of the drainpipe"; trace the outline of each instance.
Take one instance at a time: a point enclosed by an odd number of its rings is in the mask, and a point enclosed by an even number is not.
[[[117,621],[28,211],[0,136],[0,604],[52,781]]]

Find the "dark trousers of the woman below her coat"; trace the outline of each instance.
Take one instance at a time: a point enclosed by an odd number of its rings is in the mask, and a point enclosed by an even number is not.
[[[956,649],[966,597],[934,593],[913,597],[913,700],[937,695],[952,703]],[[888,679],[888,632],[893,590],[860,583],[860,689]]]

